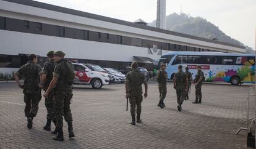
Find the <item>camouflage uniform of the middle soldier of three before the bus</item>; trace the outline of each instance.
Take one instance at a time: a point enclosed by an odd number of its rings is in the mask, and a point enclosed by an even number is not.
[[[174,74],[174,79],[176,79],[177,103],[179,105],[182,105],[184,97],[186,95],[187,74],[181,70]]]

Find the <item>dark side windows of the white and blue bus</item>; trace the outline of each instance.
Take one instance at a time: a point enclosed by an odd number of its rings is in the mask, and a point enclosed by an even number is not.
[[[171,57],[171,55],[169,57]],[[245,65],[244,63],[250,62],[250,60],[253,60],[253,62],[255,62],[255,57],[177,55],[172,65],[176,65],[179,63],[197,63],[208,65]]]

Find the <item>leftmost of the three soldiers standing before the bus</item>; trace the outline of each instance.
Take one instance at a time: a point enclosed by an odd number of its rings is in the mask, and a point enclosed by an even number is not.
[[[160,93],[160,100],[158,103],[158,107],[164,108],[164,99],[166,97],[167,88],[166,88],[166,79],[167,79],[167,72],[165,71],[166,65],[164,63],[161,64],[160,70],[158,70],[156,74],[156,80],[158,81],[158,90]]]

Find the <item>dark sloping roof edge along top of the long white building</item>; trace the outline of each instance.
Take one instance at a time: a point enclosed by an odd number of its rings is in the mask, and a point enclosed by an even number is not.
[[[224,45],[224,46],[231,46],[231,47],[237,47],[237,48],[245,49],[244,46],[229,44],[227,42],[214,41],[214,40],[211,40],[211,39],[200,38],[200,37],[192,36],[192,35],[189,35],[189,34],[183,34],[183,33],[177,33],[177,32],[174,32],[174,31],[163,30],[163,29],[160,29],[160,28],[152,27],[152,26],[141,25],[139,23],[133,23],[133,22],[127,22],[127,21],[124,21],[124,20],[105,17],[105,16],[102,16],[102,15],[90,14],[88,12],[69,9],[69,8],[66,8],[66,7],[54,6],[52,4],[46,4],[46,3],[38,2],[38,1],[32,1],[32,0],[3,0],[3,1],[14,2],[14,3],[17,3],[17,4],[23,4],[23,5],[26,5],[26,6],[38,7],[38,8],[41,8],[41,9],[52,10],[52,11],[61,12],[61,13],[64,13],[64,14],[71,14],[71,15],[77,15],[77,16],[80,16],[80,17],[92,18],[92,19],[101,20],[101,21],[105,21],[105,22],[117,23],[119,25],[132,26],[134,28],[140,28],[140,29],[143,29],[143,30],[150,30],[150,31],[156,31],[156,32],[159,32],[159,33],[164,33],[164,34],[171,34],[171,35],[174,35],[174,36],[181,36],[183,38],[190,38],[190,39],[195,39],[195,40],[199,40],[199,41],[211,42],[211,43],[215,43],[215,44],[221,44],[221,45]]]

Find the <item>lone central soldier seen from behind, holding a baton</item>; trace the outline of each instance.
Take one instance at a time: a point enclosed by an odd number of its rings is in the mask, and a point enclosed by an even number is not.
[[[130,101],[130,115],[132,116],[132,125],[135,125],[135,115],[137,107],[137,123],[142,123],[140,113],[142,111],[142,83],[145,85],[144,98],[148,96],[148,84],[145,80],[144,74],[137,69],[139,67],[137,62],[132,62],[132,71],[126,77],[126,99]]]

